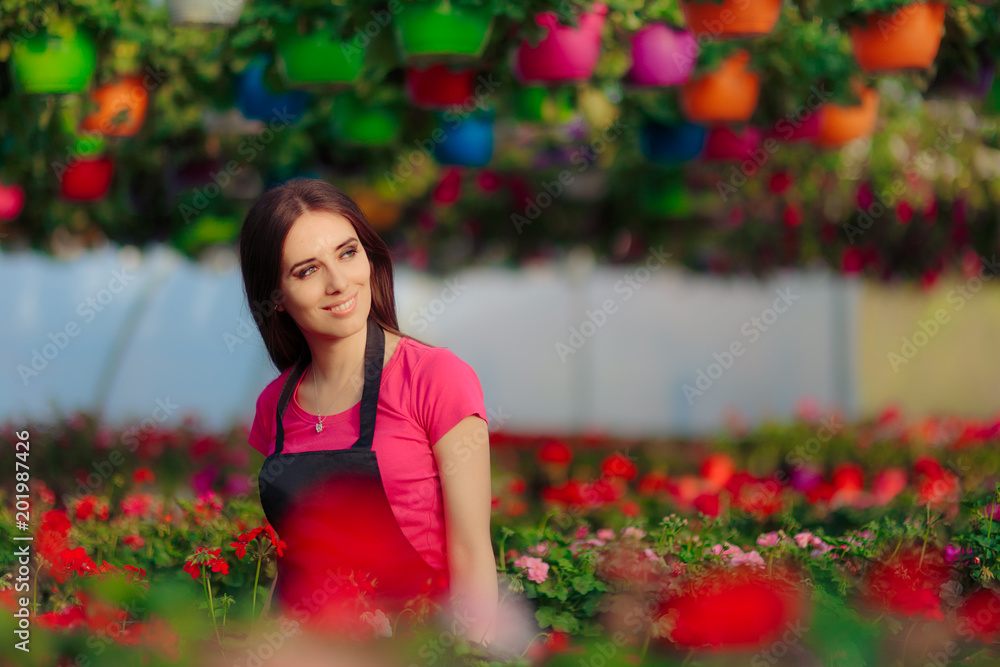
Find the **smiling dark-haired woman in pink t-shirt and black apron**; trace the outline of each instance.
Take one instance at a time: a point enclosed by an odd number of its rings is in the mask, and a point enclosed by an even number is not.
[[[267,457],[261,504],[287,543],[279,605],[307,620],[351,586],[380,610],[450,597],[456,632],[488,644],[497,578],[476,374],[400,332],[389,249],[336,187],[294,179],[266,192],[239,254],[281,371],[249,437]]]

